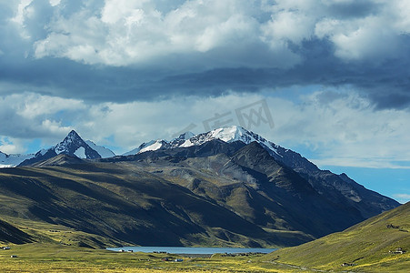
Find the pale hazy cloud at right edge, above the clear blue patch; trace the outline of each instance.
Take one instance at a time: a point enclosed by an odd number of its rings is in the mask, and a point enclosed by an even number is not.
[[[301,100],[271,102],[277,142],[304,144],[319,166],[410,167],[408,111],[375,111],[353,90],[317,91]]]

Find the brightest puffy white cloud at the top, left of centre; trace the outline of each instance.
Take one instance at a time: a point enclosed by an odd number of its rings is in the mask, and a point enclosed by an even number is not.
[[[113,0],[105,2],[101,17],[84,10],[71,16],[55,12],[48,35],[35,41],[35,56],[126,66],[215,48],[235,50],[241,43],[260,42],[259,25],[247,6],[245,1],[186,1],[163,13],[156,1]]]

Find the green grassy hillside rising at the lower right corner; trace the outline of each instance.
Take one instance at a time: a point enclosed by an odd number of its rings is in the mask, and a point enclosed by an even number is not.
[[[393,253],[399,248],[405,253]],[[317,269],[408,272],[410,202],[343,232],[295,248],[277,250],[262,260]],[[344,263],[346,267],[342,267]]]

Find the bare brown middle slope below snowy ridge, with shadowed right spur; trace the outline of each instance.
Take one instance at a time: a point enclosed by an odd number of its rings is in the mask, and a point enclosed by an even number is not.
[[[159,149],[104,162],[135,162],[146,171],[186,187],[263,227],[286,245],[340,231],[365,219],[350,204],[335,204],[304,177],[277,162],[257,142]]]

